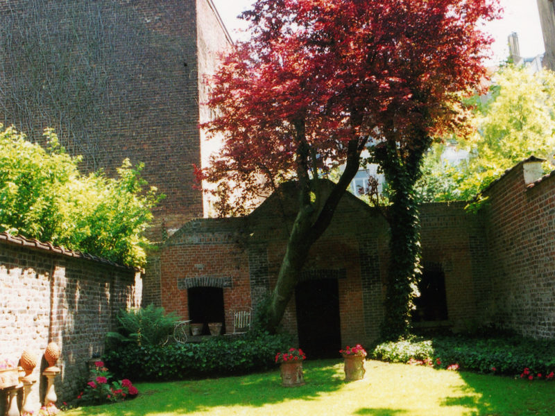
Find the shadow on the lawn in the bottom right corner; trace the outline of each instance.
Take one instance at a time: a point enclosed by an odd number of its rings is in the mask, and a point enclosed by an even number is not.
[[[446,397],[442,406],[462,406],[473,416],[553,415],[555,383],[515,380],[506,376],[461,372],[461,395]]]

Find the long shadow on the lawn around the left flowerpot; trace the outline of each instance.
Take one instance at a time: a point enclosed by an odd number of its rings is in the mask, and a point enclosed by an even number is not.
[[[180,415],[209,411],[214,407],[261,407],[296,399],[314,400],[345,385],[336,360],[307,361],[303,367],[306,384],[295,388],[282,387],[279,370],[221,379],[139,383],[137,399],[110,406],[81,408],[78,414]]]

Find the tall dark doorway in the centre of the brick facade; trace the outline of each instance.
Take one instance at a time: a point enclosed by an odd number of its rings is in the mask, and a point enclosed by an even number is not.
[[[295,300],[299,345],[307,358],[337,358],[341,349],[337,279],[304,281],[297,285]]]

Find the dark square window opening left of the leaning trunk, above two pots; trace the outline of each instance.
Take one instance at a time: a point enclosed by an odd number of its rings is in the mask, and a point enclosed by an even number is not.
[[[222,322],[221,333],[225,333],[225,315],[223,313],[222,288],[189,288],[189,319],[193,323],[202,323],[203,335],[210,335],[208,322]]]

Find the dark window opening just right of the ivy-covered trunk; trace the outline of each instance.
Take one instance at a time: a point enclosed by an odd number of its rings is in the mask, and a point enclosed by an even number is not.
[[[424,263],[422,279],[418,284],[420,297],[414,300],[413,322],[447,320],[445,274],[441,264]]]

